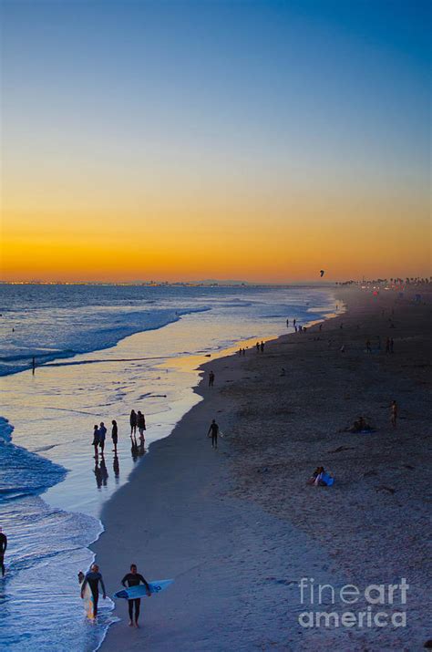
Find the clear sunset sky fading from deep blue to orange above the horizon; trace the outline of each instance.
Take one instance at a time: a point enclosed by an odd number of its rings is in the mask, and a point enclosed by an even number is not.
[[[2,0],[4,281],[430,269],[423,0]]]

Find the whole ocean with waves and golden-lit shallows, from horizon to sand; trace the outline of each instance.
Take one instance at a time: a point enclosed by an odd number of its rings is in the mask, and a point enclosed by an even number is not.
[[[196,365],[291,332],[287,318],[305,325],[334,310],[325,286],[0,285],[2,649],[98,649],[113,605],[102,601],[98,624],[88,622],[77,572],[93,560],[103,504],[201,400]],[[132,408],[146,415],[144,444],[129,437]],[[101,420],[106,454],[95,461]]]

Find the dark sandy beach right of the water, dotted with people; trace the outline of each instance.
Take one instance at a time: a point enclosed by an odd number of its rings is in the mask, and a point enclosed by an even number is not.
[[[108,593],[132,562],[175,583],[143,601],[139,629],[118,602],[102,650],[416,650],[432,638],[430,302],[338,293],[346,312],[321,331],[204,366],[204,399],[104,508],[92,547]],[[374,432],[345,431],[360,415]],[[217,451],[213,418],[225,435]],[[318,465],[332,488],[306,485]],[[302,577],[360,591],[405,577],[406,605],[382,610],[406,611],[406,626],[302,626]],[[331,602],[322,610],[367,608]]]

